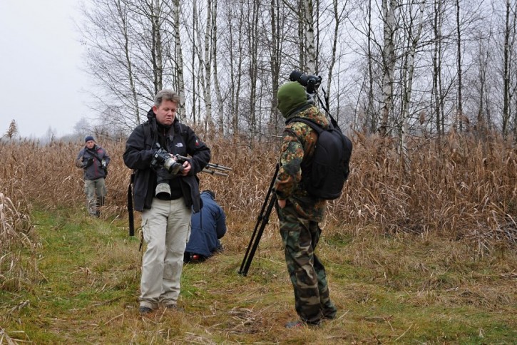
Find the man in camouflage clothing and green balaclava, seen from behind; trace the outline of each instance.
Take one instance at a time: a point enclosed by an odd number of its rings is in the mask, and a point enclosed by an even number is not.
[[[304,87],[289,82],[278,89],[280,113],[286,118],[280,155],[280,170],[275,180],[280,220],[280,235],[285,247],[285,261],[295,289],[295,308],[300,320],[287,323],[287,328],[317,325],[323,319],[334,319],[336,307],[330,301],[327,277],[314,249],[322,230],[326,200],[312,197],[304,187],[302,167],[310,167],[317,133],[309,125],[292,118],[306,118],[322,128],[329,121],[316,106],[307,101]]]

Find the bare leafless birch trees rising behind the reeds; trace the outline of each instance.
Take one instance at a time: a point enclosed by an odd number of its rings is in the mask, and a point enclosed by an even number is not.
[[[515,0],[85,0],[94,108],[128,133],[173,88],[179,117],[226,137],[278,135],[293,70],[342,128],[399,139],[450,130],[517,140]]]

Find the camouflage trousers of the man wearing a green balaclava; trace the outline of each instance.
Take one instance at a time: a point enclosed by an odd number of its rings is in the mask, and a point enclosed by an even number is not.
[[[297,314],[312,324],[333,319],[337,309],[330,300],[325,267],[314,254],[322,230],[317,222],[300,217],[289,201],[277,210]]]

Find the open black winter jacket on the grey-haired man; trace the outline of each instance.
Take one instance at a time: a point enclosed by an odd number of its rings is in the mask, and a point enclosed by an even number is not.
[[[155,196],[157,185],[156,172],[150,168],[153,155],[158,143],[158,126],[153,109],[147,114],[148,120],[138,125],[126,141],[126,152],[123,154],[124,163],[130,169],[134,169],[133,202],[136,211],[150,209]],[[187,176],[178,176],[185,205],[192,207],[194,212],[199,212],[200,193],[199,180],[196,175],[210,162],[210,149],[199,140],[194,131],[174,120],[173,125],[165,133],[165,141],[169,153],[183,156],[190,155],[192,168]]]

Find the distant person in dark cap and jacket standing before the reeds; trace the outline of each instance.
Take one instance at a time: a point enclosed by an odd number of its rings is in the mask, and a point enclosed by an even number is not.
[[[99,207],[104,205],[108,192],[104,179],[108,174],[110,157],[106,150],[97,145],[93,136],[84,139],[85,145],[76,158],[77,168],[84,170],[84,192],[86,193],[86,207],[91,216],[99,217]]]

